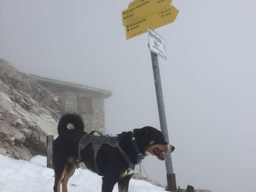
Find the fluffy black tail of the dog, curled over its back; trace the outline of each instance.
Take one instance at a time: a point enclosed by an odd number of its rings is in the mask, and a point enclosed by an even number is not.
[[[80,115],[76,113],[66,113],[61,116],[58,124],[57,130],[59,135],[68,130],[67,125],[69,123],[72,123],[77,130],[84,130],[84,121]]]

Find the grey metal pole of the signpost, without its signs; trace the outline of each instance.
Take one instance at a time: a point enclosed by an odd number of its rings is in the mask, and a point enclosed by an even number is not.
[[[156,98],[157,98],[160,127],[161,127],[162,133],[165,136],[166,142],[169,143],[167,123],[166,123],[165,110],[164,110],[164,99],[163,99],[163,93],[162,93],[161,77],[160,77],[160,70],[159,70],[159,65],[158,65],[158,57],[157,57],[157,54],[153,53],[152,51],[150,51],[150,53],[151,53],[154,80],[155,80]],[[166,173],[167,173],[166,174],[167,191],[176,192],[176,189],[177,189],[176,178],[175,178],[175,174],[173,173],[171,154],[165,153],[165,156],[169,161],[169,162],[165,161]]]

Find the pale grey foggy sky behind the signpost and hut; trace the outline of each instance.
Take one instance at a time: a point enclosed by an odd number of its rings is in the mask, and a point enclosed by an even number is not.
[[[106,129],[160,129],[148,35],[126,40],[130,1],[0,0],[0,58],[26,73],[113,91]],[[159,58],[177,186],[255,189],[256,2],[173,0]],[[165,163],[143,161],[166,183]]]

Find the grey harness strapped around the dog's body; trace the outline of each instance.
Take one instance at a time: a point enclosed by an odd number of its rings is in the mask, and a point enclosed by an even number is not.
[[[93,135],[93,133],[95,133],[95,132],[99,133],[100,136]],[[89,143],[92,143],[92,149],[94,150],[94,167],[95,167],[95,171],[98,175],[103,176],[99,170],[97,163],[96,163],[97,154],[98,154],[98,151],[100,150],[102,144],[108,144],[111,147],[117,147],[119,149],[119,151],[123,155],[124,159],[128,163],[127,173],[129,173],[131,169],[134,169],[135,164],[133,164],[131,162],[131,160],[128,157],[128,155],[126,154],[126,152],[120,147],[118,137],[104,136],[102,133],[100,133],[98,131],[92,131],[90,134],[86,134],[80,139],[79,145],[78,145],[79,160],[82,161],[81,156],[80,156],[81,150],[83,150]]]

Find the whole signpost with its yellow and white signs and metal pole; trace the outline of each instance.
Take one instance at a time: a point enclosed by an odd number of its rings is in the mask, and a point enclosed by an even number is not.
[[[126,39],[130,39],[146,33],[149,35],[149,49],[153,65],[156,98],[161,131],[165,140],[169,142],[166,117],[164,111],[164,99],[162,93],[161,78],[157,55],[166,59],[165,40],[154,29],[175,21],[179,10],[170,5],[172,0],[143,1],[134,0],[128,8],[121,12],[123,26],[125,26]],[[149,28],[151,27],[151,28]],[[165,154],[169,162],[165,162],[167,172],[167,191],[176,192],[176,178],[172,168],[171,154]]]

